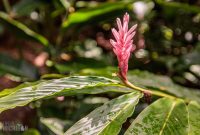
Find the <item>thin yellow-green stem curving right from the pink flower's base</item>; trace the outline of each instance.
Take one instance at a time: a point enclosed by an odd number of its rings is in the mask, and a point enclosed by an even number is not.
[[[138,91],[141,91],[143,93],[150,93],[150,94],[153,94],[153,95],[156,95],[156,96],[159,96],[159,97],[167,97],[167,98],[176,99],[176,97],[174,97],[174,96],[171,96],[171,95],[159,92],[159,91],[150,91],[150,90],[147,90],[147,89],[140,88],[138,86],[133,85],[128,80],[125,80],[123,82],[127,87],[135,89],[135,90],[138,90]]]

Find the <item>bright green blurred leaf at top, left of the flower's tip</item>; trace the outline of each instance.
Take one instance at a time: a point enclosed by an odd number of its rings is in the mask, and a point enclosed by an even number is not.
[[[72,25],[87,23],[91,21],[102,21],[110,18],[110,15],[115,15],[118,12],[123,12],[127,8],[127,2],[107,2],[100,4],[97,7],[79,10],[69,15],[68,19],[64,21],[62,28],[66,29]]]

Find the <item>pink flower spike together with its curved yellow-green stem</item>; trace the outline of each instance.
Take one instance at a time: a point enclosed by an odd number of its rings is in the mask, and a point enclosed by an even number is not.
[[[115,28],[112,29],[112,33],[115,40],[110,39],[110,43],[113,46],[113,52],[117,56],[117,60],[118,60],[118,67],[119,67],[118,77],[120,77],[124,85],[131,89],[142,92],[148,103],[151,102],[152,94],[161,96],[161,97],[168,97],[168,98],[175,99],[176,97],[167,95],[165,93],[150,91],[150,90],[135,86],[134,84],[132,84],[131,82],[127,80],[128,60],[129,60],[131,52],[134,51],[136,48],[136,46],[133,44],[132,38],[135,36],[135,33],[136,33],[135,29],[137,27],[137,24],[132,26],[130,29],[128,29],[128,23],[129,23],[128,13],[124,15],[123,22],[121,22],[119,18],[117,18],[116,21],[117,21],[118,31]]]

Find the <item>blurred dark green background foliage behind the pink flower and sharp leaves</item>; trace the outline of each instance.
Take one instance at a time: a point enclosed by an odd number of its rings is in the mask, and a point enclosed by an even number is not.
[[[109,39],[116,17],[125,12],[130,26],[138,24],[129,69],[166,75],[177,84],[200,89],[199,0],[1,0],[0,90],[40,78],[113,78],[117,60]],[[53,134],[44,126],[52,119],[42,117],[54,117],[67,129],[115,96],[37,101],[4,112],[0,121],[33,128],[24,134]]]

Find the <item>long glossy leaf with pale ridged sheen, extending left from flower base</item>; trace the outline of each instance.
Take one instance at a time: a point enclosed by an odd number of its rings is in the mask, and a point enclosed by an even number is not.
[[[17,106],[24,106],[32,101],[76,94],[98,94],[105,92],[130,92],[132,90],[120,85],[118,81],[96,76],[73,76],[30,85],[22,85],[7,92],[2,91],[0,98],[0,112]],[[1,92],[0,92],[1,95]]]

